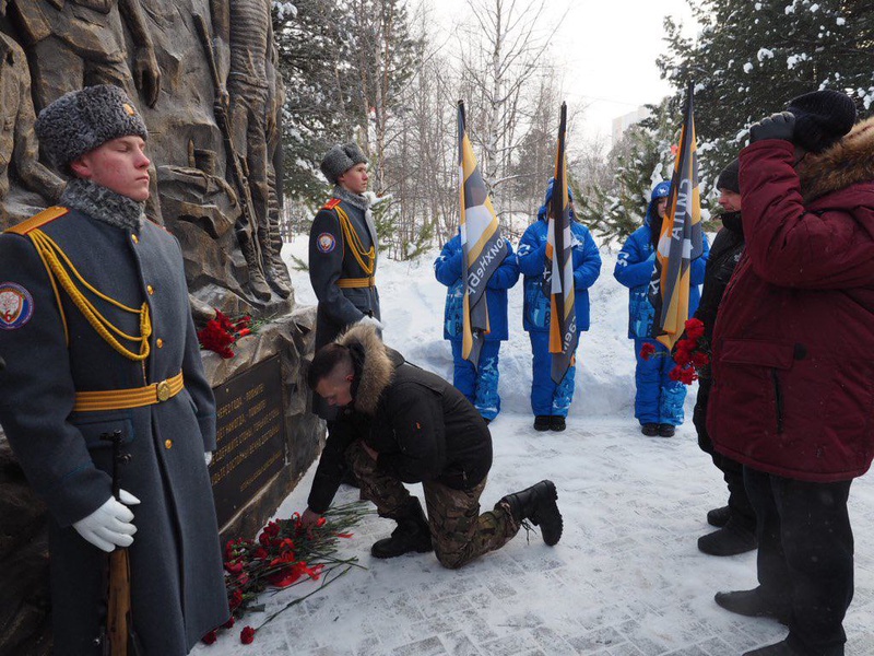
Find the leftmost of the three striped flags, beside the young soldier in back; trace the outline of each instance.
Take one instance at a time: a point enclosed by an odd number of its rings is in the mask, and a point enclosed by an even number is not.
[[[461,354],[474,366],[488,326],[485,288],[507,253],[492,199],[464,127],[464,102],[458,103],[458,168],[461,201],[461,278],[464,281]]]

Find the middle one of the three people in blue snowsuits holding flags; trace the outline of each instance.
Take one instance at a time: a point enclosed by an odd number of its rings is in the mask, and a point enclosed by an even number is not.
[[[522,325],[531,339],[533,376],[531,382],[531,409],[538,431],[564,431],[570,401],[574,400],[575,367],[567,371],[560,385],[552,379],[550,354],[550,298],[543,293],[543,268],[546,259],[546,229],[548,207],[553,198],[553,184],[546,186],[546,200],[538,210],[538,220],[528,226],[519,242],[517,258],[524,276],[524,306]],[[578,223],[574,213],[574,195],[568,190],[570,206],[570,234],[574,249],[574,306],[577,312],[577,330],[589,329],[589,288],[601,273],[601,254],[589,229]]]

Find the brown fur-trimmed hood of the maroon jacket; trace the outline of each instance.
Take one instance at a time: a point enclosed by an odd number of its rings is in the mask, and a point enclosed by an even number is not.
[[[807,204],[857,183],[874,181],[874,117],[822,153],[807,153],[795,167]]]

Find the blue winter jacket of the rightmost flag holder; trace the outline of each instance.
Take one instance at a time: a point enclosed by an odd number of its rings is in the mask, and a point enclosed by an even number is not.
[[[616,259],[613,276],[629,288],[628,293],[628,337],[652,337],[652,323],[656,308],[649,302],[648,288],[656,268],[656,249],[652,247],[650,219],[656,215],[656,201],[649,203],[643,225],[626,239]],[[704,270],[710,257],[710,245],[704,237],[704,253],[693,260],[689,274],[689,316],[695,314],[701,300],[699,285],[704,283]]]

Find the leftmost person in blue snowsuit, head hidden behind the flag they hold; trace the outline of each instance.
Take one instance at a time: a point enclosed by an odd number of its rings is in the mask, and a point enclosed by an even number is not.
[[[498,395],[498,351],[500,342],[507,341],[507,290],[519,280],[519,265],[512,246],[507,244],[507,253],[497,271],[492,274],[485,290],[488,306],[491,332],[485,336],[480,351],[479,366],[473,366],[461,356],[463,337],[462,308],[464,304],[464,283],[461,280],[461,235],[449,239],[434,262],[437,280],[449,288],[446,291],[444,312],[444,339],[452,345],[452,385],[474,405],[486,423],[500,412]]]

